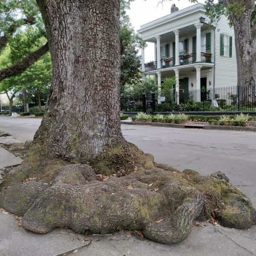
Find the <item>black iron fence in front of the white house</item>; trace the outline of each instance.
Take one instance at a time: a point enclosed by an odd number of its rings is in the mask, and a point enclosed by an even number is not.
[[[246,87],[248,88],[248,87]],[[219,87],[206,90],[145,93],[137,97],[122,97],[121,111],[256,111],[255,90],[245,87]]]

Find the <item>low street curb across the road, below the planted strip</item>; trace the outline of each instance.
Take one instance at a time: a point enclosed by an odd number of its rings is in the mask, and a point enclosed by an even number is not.
[[[123,122],[122,125],[149,125],[153,127],[167,127],[167,128],[201,128],[204,130],[220,130],[220,131],[253,131],[256,132],[256,127],[242,127],[242,126],[224,126],[224,125],[202,125],[202,126],[193,126],[193,125],[178,125],[178,124],[169,124],[169,123],[157,123],[157,122]],[[190,126],[190,127],[186,127]]]

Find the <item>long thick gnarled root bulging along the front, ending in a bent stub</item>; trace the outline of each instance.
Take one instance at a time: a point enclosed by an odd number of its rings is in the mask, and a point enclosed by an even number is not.
[[[189,235],[203,209],[201,193],[179,182],[166,183],[160,192],[128,176],[72,186],[59,183],[68,168],[61,170],[57,183],[45,190],[24,215],[26,229],[37,233],[55,227],[70,227],[78,233],[143,230],[154,241],[173,244]]]

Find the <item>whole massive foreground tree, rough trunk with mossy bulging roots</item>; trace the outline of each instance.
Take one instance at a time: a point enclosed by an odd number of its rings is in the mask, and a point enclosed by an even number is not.
[[[52,55],[46,113],[28,152],[7,170],[0,207],[47,233],[142,230],[184,240],[196,219],[248,228],[256,211],[225,175],[179,172],[124,140],[119,116],[119,0],[38,0]],[[87,164],[90,164],[87,165]]]

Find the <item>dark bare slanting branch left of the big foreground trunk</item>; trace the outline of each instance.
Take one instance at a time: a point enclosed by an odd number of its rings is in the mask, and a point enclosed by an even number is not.
[[[29,53],[26,58],[23,58],[18,63],[0,70],[0,81],[10,76],[16,76],[25,71],[30,65],[35,63],[41,56],[43,56],[49,50],[48,43],[44,44],[41,48],[35,52]]]

